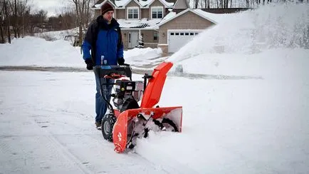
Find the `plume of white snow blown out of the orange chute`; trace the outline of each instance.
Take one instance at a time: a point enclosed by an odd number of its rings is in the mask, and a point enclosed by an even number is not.
[[[259,53],[269,48],[309,48],[309,5],[281,4],[220,16],[169,61],[204,53]],[[203,44],[201,44],[203,43]]]

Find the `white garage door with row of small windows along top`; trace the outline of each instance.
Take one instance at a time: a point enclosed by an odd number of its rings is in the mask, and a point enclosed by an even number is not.
[[[197,36],[199,31],[169,31],[169,53],[174,53]]]

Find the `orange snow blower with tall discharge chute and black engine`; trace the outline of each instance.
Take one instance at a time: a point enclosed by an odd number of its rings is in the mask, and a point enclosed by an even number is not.
[[[116,79],[115,83],[101,84],[101,93],[106,85],[115,87],[111,97],[117,109],[103,97],[108,103],[109,113],[105,114],[101,124],[103,137],[114,143],[115,152],[134,148],[136,139],[147,138],[149,131],[182,131],[182,106],[155,106],[172,66],[171,62],[160,63],[151,76],[145,73],[144,81],[132,81],[129,65],[95,66],[95,73],[100,77]]]

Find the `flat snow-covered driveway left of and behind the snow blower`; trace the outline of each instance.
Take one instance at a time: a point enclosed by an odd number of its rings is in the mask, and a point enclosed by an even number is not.
[[[63,75],[0,72],[0,173],[165,173],[95,129],[93,73]]]

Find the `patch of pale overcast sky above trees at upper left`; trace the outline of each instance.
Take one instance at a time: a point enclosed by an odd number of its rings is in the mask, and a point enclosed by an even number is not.
[[[34,9],[43,9],[48,11],[49,16],[55,16],[61,12],[61,9],[67,4],[72,4],[72,0],[28,0],[33,4]]]

